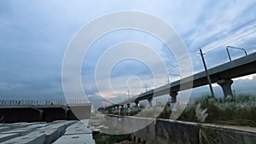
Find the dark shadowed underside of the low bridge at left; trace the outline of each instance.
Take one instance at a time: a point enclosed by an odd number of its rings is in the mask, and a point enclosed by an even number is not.
[[[78,113],[79,112],[79,113]],[[79,118],[78,118],[78,117]],[[90,118],[90,104],[72,106],[5,106],[0,107],[1,123],[53,122]]]

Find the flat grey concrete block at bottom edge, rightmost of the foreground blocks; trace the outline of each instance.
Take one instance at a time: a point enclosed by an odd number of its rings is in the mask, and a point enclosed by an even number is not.
[[[92,138],[91,134],[80,134],[80,135],[62,135],[57,141],[53,144],[70,144],[70,143],[77,143],[77,144],[95,144],[95,141]]]

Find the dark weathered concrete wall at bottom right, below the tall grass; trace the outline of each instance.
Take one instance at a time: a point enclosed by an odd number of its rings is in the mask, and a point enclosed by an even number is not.
[[[141,120],[141,118],[140,118]],[[134,118],[134,123],[137,123]],[[123,126],[124,127],[124,126]],[[256,130],[248,127],[196,124],[168,119],[156,119],[142,130],[131,134],[135,141],[147,144],[254,144]]]

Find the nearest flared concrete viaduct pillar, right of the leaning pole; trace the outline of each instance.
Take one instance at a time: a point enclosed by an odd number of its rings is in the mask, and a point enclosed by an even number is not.
[[[228,95],[232,96],[231,84],[233,84],[233,81],[231,79],[218,80],[217,84],[221,86],[224,93],[224,98],[226,98]]]

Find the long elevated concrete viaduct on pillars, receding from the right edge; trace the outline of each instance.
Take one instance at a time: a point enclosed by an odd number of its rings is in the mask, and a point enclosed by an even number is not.
[[[242,76],[247,76],[249,74],[256,73],[256,53],[246,55],[236,60],[231,60],[222,65],[212,67],[208,70],[209,76],[211,78],[212,84],[217,83],[221,86],[224,92],[224,97],[227,95],[232,95],[231,84],[233,84],[232,78],[239,78]],[[136,103],[138,106],[139,101],[152,100],[154,97],[160,95],[171,95],[172,102],[177,101],[177,92],[185,89],[200,87],[207,85],[207,75],[206,72],[198,72],[192,76],[182,78],[171,84],[166,84],[156,89],[149,90],[141,95],[131,97],[131,99],[122,101],[119,104],[115,104],[109,107],[101,107],[99,110],[109,109],[119,105],[129,105],[132,102]],[[182,87],[181,87],[182,85]]]

